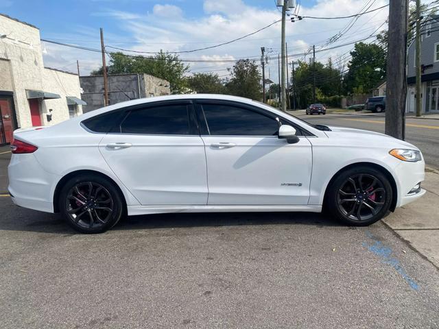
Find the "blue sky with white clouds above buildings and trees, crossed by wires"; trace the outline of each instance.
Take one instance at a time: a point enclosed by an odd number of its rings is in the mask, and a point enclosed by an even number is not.
[[[100,49],[99,27],[104,29],[107,51],[114,48],[156,52],[189,51],[217,45],[281,19],[275,0],[0,0],[0,12],[36,25],[41,38]],[[429,3],[429,1],[422,1]],[[309,49],[316,45],[316,60],[336,65],[348,62],[352,45],[346,43],[368,38],[373,42],[381,29],[387,28],[388,7],[360,16],[358,19],[302,19],[292,23],[292,14],[302,16],[348,16],[368,8],[388,4],[386,0],[300,0],[300,6],[289,12],[286,24],[287,49],[292,60],[309,60]],[[433,4],[431,5],[433,6]],[[367,9],[366,9],[367,10]],[[366,11],[364,10],[364,11]],[[351,26],[352,25],[352,26]],[[349,28],[348,28],[349,27]],[[0,31],[1,32],[1,31]],[[333,36],[344,32],[337,40]],[[81,75],[102,65],[100,53],[42,42],[45,66]],[[278,79],[281,49],[281,23],[243,40],[191,53],[181,53],[191,73],[213,72],[220,77],[240,58],[260,63],[261,47],[268,51],[266,74]],[[327,48],[333,48],[329,49]],[[130,53],[126,51],[126,53]],[[135,54],[135,53],[132,53]],[[193,61],[193,62],[191,62]]]

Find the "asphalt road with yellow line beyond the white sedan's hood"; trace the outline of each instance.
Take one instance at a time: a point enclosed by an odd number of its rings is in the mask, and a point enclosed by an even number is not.
[[[351,127],[384,133],[384,114],[306,115],[305,111],[289,112],[312,124]],[[407,118],[406,141],[416,145],[430,167],[439,169],[439,120]]]

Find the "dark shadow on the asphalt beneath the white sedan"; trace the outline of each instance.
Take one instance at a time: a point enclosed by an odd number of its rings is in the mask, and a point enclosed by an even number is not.
[[[0,204],[0,230],[75,234],[58,214]],[[335,219],[314,212],[195,212],[130,216],[111,230],[147,230],[157,228],[202,228],[218,226],[309,225],[342,226]]]

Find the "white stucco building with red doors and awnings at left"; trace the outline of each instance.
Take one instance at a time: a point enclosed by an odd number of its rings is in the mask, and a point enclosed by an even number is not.
[[[19,127],[82,114],[78,75],[44,66],[40,31],[0,14],[0,145]]]

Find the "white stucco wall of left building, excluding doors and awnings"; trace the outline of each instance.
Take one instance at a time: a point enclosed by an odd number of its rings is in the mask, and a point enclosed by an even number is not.
[[[0,40],[0,80],[3,80],[3,74],[7,74],[7,66],[10,71],[10,81],[0,82],[0,90],[14,92],[14,106],[19,127],[32,126],[26,89],[57,93],[62,97],[56,103],[52,103],[54,100],[49,99],[40,102],[42,123],[53,125],[69,119],[65,96],[81,98],[78,75],[60,72],[56,75],[51,72],[52,70],[45,69],[38,28],[0,14],[0,32],[7,34],[6,38]],[[5,64],[6,61],[9,64]],[[54,109],[54,115],[52,121],[48,123],[44,114],[49,108]],[[80,108],[79,112],[82,112]]]

